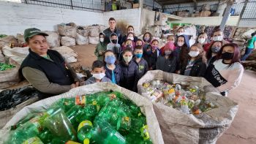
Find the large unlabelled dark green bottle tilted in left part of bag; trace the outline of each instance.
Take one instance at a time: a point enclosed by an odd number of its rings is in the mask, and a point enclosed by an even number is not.
[[[77,140],[75,129],[61,108],[53,110],[53,113],[45,118],[43,125],[54,137],[61,137],[66,141]]]

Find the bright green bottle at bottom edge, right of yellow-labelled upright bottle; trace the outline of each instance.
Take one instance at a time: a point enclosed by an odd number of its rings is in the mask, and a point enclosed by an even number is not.
[[[92,140],[101,144],[124,144],[126,143],[124,137],[116,131],[104,119],[97,119],[94,121],[94,129],[91,132]]]

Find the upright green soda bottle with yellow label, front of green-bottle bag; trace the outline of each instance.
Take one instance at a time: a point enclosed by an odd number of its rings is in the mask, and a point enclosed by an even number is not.
[[[83,143],[89,143],[91,139],[91,121],[82,121],[78,126],[78,140]]]

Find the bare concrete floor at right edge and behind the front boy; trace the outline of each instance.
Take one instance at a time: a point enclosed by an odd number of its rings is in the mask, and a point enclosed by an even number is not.
[[[96,45],[73,47],[78,53],[78,62],[91,67]],[[256,73],[245,71],[240,86],[230,91],[229,98],[238,102],[239,108],[230,128],[219,138],[217,144],[252,144],[256,143]]]

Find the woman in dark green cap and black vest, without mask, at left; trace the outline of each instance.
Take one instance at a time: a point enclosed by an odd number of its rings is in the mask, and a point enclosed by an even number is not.
[[[49,50],[48,34],[31,28],[24,31],[29,55],[20,66],[20,75],[42,93],[42,98],[62,94],[78,86],[75,72],[56,50]]]

